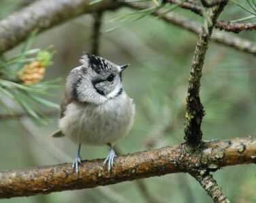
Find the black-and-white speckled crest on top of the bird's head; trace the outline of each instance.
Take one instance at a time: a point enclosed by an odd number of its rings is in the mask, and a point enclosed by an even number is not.
[[[104,58],[97,55],[92,55],[90,53],[84,54],[80,62],[84,66],[89,66],[98,74],[115,70],[115,64],[109,62],[109,60],[105,60]]]

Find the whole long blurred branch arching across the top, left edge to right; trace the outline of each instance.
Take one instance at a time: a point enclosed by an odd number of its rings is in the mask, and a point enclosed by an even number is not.
[[[31,30],[35,28],[39,29],[39,32],[42,32],[43,30],[52,28],[81,14],[114,10],[122,7],[122,5],[134,9],[148,8],[147,5],[138,3],[122,3],[120,1],[111,0],[100,1],[100,3],[96,3],[95,5],[89,5],[89,3],[89,0],[39,0],[24,7],[24,9],[21,9],[19,12],[0,21],[0,53],[12,49],[24,41],[24,39],[29,36]],[[160,12],[155,12],[154,15],[160,16],[161,14]],[[188,20],[183,16],[170,13],[162,16],[162,19],[196,34],[200,33],[200,24]],[[255,43],[239,37],[233,37],[227,33],[214,32],[212,39],[217,43],[234,47],[246,53],[256,53]]]

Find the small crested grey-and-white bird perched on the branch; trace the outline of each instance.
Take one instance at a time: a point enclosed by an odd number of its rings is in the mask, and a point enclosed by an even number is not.
[[[111,172],[116,156],[113,145],[128,134],[134,122],[134,101],[122,85],[122,73],[130,64],[118,66],[90,53],[84,53],[80,63],[67,76],[59,129],[52,137],[67,136],[78,146],[72,164],[77,174],[81,145],[108,145],[103,165]]]

